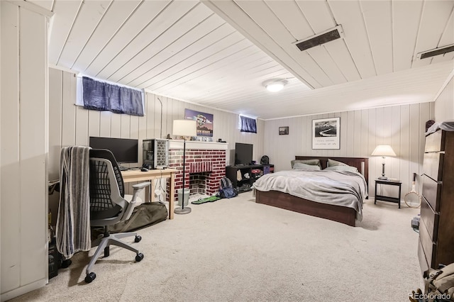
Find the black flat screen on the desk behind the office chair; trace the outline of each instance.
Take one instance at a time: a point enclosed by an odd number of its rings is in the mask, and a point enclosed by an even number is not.
[[[133,138],[99,138],[90,136],[89,146],[93,149],[110,150],[120,164],[138,162],[139,141]]]

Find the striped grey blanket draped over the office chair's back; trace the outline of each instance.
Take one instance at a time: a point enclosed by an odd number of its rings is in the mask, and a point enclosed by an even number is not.
[[[64,147],[60,152],[60,203],[57,250],[65,259],[92,247],[89,205],[90,147]]]

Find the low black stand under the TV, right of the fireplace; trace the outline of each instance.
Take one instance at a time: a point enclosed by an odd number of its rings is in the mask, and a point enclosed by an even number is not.
[[[232,181],[233,188],[238,189],[238,193],[251,190],[254,181],[263,174],[274,172],[274,164],[248,164],[226,167],[226,177]]]

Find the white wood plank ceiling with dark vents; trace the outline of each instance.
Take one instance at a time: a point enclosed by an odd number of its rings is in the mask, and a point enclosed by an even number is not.
[[[451,0],[28,2],[55,13],[50,65],[263,119],[433,101],[454,67],[417,58],[454,44]]]

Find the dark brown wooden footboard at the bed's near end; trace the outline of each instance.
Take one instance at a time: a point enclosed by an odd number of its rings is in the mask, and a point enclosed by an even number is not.
[[[255,202],[355,226],[356,211],[345,206],[309,201],[279,191],[258,190],[255,190]]]

